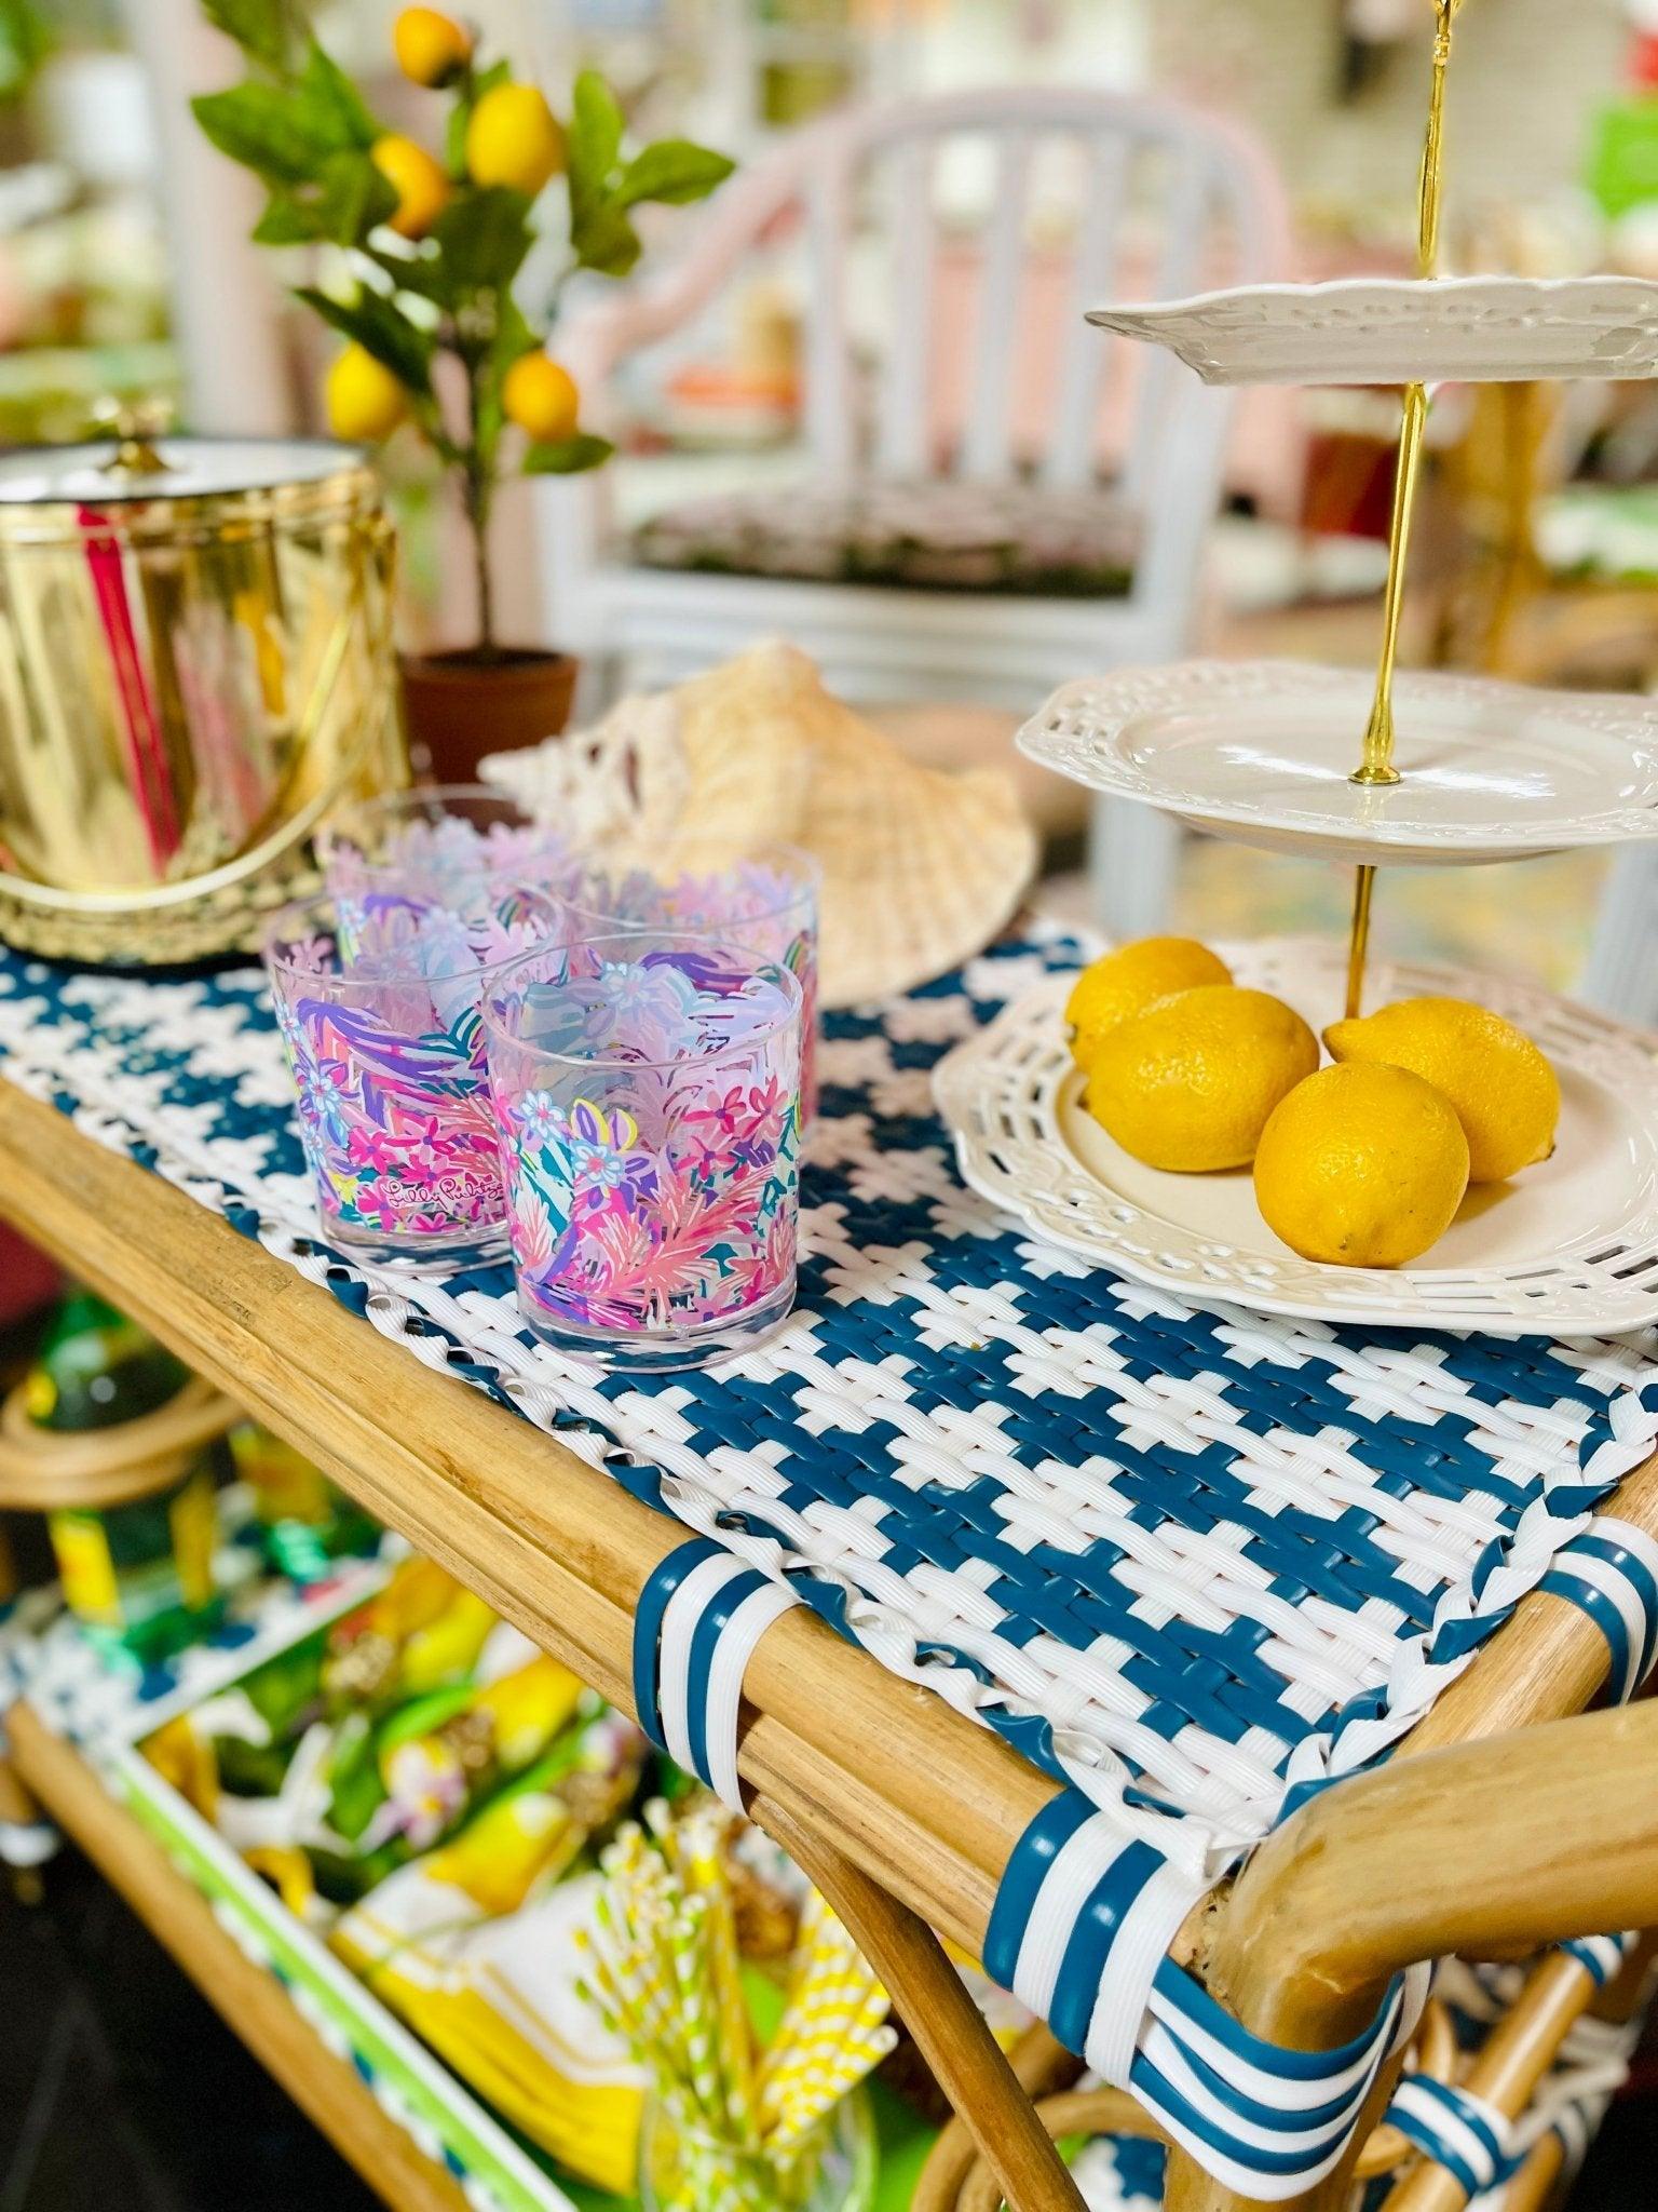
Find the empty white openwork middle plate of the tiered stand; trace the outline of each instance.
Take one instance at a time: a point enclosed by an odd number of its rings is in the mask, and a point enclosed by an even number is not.
[[[1373,688],[1307,661],[1119,668],[1057,690],[1019,750],[1216,836],[1331,860],[1466,867],[1658,836],[1658,699],[1402,675],[1402,781],[1366,787]]]

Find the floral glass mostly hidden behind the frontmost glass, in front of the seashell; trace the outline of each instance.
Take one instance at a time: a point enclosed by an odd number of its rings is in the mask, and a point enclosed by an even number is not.
[[[559,894],[592,927],[707,931],[745,945],[800,978],[800,1121],[818,1110],[818,883],[822,869],[798,845],[749,852],[670,847],[643,867],[588,863]],[[528,880],[542,880],[528,878]]]

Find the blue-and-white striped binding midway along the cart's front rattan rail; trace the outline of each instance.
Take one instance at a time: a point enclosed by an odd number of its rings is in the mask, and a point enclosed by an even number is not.
[[[745,1566],[712,1537],[679,1544],[639,1595],[632,1701],[639,1725],[688,1774],[743,1812],[736,1725],[754,1646],[794,1590]]]

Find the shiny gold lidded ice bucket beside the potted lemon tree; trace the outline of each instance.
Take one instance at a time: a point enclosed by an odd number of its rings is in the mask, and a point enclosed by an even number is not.
[[[407,781],[391,564],[354,447],[0,460],[0,936],[119,964],[254,945],[323,816]]]

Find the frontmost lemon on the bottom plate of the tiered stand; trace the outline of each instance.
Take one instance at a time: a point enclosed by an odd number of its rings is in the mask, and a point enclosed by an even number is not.
[[[1450,1228],[1468,1139],[1450,1099],[1388,1066],[1320,1068],[1278,1106],[1256,1152],[1273,1237],[1331,1267],[1404,1267]]]

